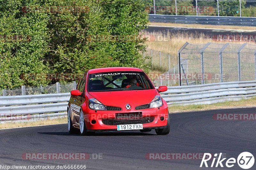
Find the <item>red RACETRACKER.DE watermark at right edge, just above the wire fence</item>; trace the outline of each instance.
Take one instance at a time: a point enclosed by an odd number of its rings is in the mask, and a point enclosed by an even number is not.
[[[222,41],[222,42],[255,42],[256,41],[256,35],[229,35],[229,34],[223,34],[223,35],[213,35],[212,36],[213,41]]]

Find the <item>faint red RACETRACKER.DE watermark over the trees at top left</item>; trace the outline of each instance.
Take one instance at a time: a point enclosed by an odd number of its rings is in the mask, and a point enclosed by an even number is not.
[[[24,13],[88,13],[88,6],[23,6]]]

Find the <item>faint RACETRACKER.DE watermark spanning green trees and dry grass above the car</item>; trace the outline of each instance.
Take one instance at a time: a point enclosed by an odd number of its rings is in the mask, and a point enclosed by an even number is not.
[[[90,42],[140,42],[140,41],[170,41],[167,35],[89,35]]]

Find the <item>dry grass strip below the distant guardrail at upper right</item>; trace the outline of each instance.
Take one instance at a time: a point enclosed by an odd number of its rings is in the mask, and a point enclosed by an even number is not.
[[[179,24],[150,22],[151,26],[175,26],[175,27],[193,27],[193,28],[217,28],[217,29],[236,29],[236,30],[256,30],[255,26],[229,26],[229,25],[204,25],[204,24]]]

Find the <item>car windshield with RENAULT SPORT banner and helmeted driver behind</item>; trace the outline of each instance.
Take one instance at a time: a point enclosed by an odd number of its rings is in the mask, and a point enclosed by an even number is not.
[[[89,74],[89,92],[145,89],[153,89],[153,85],[142,71],[114,71]]]

